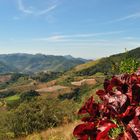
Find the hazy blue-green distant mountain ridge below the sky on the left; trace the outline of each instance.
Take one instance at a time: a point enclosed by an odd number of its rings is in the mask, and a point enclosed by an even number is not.
[[[22,72],[35,73],[40,71],[66,71],[87,60],[68,56],[54,56],[44,54],[1,54],[0,73]]]

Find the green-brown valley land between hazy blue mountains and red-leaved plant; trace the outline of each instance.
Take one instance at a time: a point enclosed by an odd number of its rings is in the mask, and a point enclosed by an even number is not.
[[[128,54],[138,51],[140,48]],[[88,61],[61,73],[2,74],[0,139],[73,139],[72,131],[79,123],[78,109],[90,96],[100,102],[95,92],[103,87],[106,77],[118,74],[110,67],[124,55]]]

